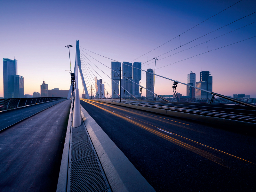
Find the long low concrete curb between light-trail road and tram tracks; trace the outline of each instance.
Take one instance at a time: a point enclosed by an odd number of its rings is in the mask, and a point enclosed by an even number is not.
[[[138,106],[138,105],[132,105],[132,104],[126,104],[126,103],[117,103],[117,102],[112,102],[112,101],[104,101],[104,100],[97,100],[97,101],[103,102],[103,103],[109,103],[109,104],[113,104],[113,105],[121,105],[121,106],[129,107],[129,108],[140,109],[140,110],[149,111],[149,112],[153,112],[153,113],[164,114],[164,115],[168,115],[168,116],[191,119],[191,120],[215,124],[215,125],[229,125],[229,126],[233,126],[233,127],[243,127],[243,128],[246,127],[247,129],[251,129],[252,131],[255,131],[255,127],[256,127],[256,124],[254,124],[254,123],[237,121],[237,120],[232,120],[232,119],[224,119],[224,118],[218,118],[218,117],[196,115],[196,114],[183,113],[183,112],[178,112],[178,111],[164,110],[164,109],[151,108],[151,107],[144,107],[144,106]]]

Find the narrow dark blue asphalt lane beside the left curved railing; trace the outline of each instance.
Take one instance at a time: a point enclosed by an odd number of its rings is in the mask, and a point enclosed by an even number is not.
[[[0,130],[14,123],[17,123],[26,117],[34,115],[35,113],[38,113],[39,111],[42,111],[45,108],[55,105],[56,103],[60,103],[61,101],[63,100],[40,103],[36,105],[0,112]]]

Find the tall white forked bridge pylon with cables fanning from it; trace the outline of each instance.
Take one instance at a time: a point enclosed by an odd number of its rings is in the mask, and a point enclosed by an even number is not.
[[[79,40],[76,40],[76,62],[75,62],[75,67],[74,67],[75,76],[76,76],[76,72],[78,72],[76,70],[77,65],[78,65],[80,76],[81,76],[81,79],[82,79],[82,84],[83,84],[83,88],[84,88],[84,92],[85,92],[85,98],[89,99],[89,93],[87,91],[87,86],[85,84],[84,75],[83,75],[82,68],[81,68]],[[78,79],[76,79],[76,81],[78,81]],[[68,92],[68,98],[71,98],[70,97],[71,93],[72,93],[72,84],[70,84],[70,88],[69,88],[69,92]],[[75,93],[74,93],[74,95],[75,95]]]

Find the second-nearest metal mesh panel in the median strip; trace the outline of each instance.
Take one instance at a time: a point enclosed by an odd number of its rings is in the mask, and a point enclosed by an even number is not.
[[[72,162],[94,154],[89,139],[72,143],[71,148]]]

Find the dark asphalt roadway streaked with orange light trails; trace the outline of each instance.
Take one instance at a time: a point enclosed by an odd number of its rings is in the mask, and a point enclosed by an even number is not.
[[[255,137],[92,100],[81,105],[156,191],[255,191]]]

